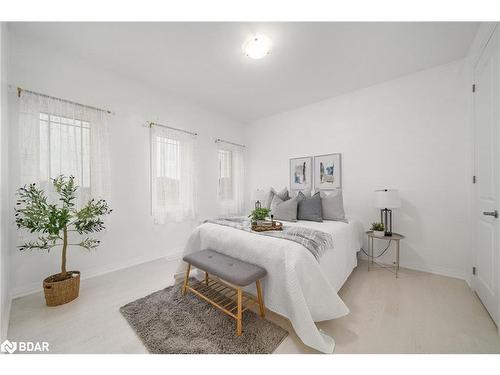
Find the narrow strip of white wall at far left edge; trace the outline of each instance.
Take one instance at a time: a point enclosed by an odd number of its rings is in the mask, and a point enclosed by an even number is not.
[[[7,127],[7,26],[0,23],[0,342],[7,337],[10,312]]]

